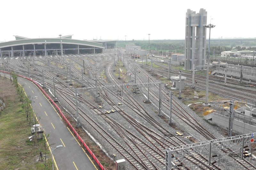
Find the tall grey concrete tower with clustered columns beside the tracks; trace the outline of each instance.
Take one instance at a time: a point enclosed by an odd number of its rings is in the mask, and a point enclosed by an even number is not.
[[[201,8],[199,13],[187,10],[185,37],[185,69],[205,64],[207,12]],[[202,68],[197,68],[201,70]]]

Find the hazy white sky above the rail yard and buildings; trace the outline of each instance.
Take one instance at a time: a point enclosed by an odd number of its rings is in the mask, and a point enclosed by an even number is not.
[[[255,38],[256,0],[3,0],[0,41],[12,35],[73,39],[184,39],[187,9],[207,11],[211,38]],[[207,31],[207,38],[208,38]]]

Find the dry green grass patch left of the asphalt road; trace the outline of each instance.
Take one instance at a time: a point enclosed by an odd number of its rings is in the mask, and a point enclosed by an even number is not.
[[[10,93],[5,95],[8,105],[0,115],[0,169],[45,169],[44,162],[38,161],[40,151],[44,156],[44,141],[39,140],[39,146],[29,141],[30,126],[17,98],[15,87],[8,79],[0,78],[0,84],[1,89],[8,87]],[[51,156],[48,159],[48,149],[46,154],[48,164],[48,160],[51,161]]]

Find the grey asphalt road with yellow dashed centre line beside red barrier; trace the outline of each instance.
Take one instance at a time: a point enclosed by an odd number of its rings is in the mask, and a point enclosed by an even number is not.
[[[48,143],[51,147],[56,169],[68,170],[91,170],[97,169],[92,160],[88,157],[80,143],[63,123],[52,104],[46,99],[43,93],[32,82],[18,78],[30,100],[39,124],[44,128],[44,134],[50,134]],[[36,97],[37,96],[37,97]],[[62,145],[62,148],[56,146]]]

